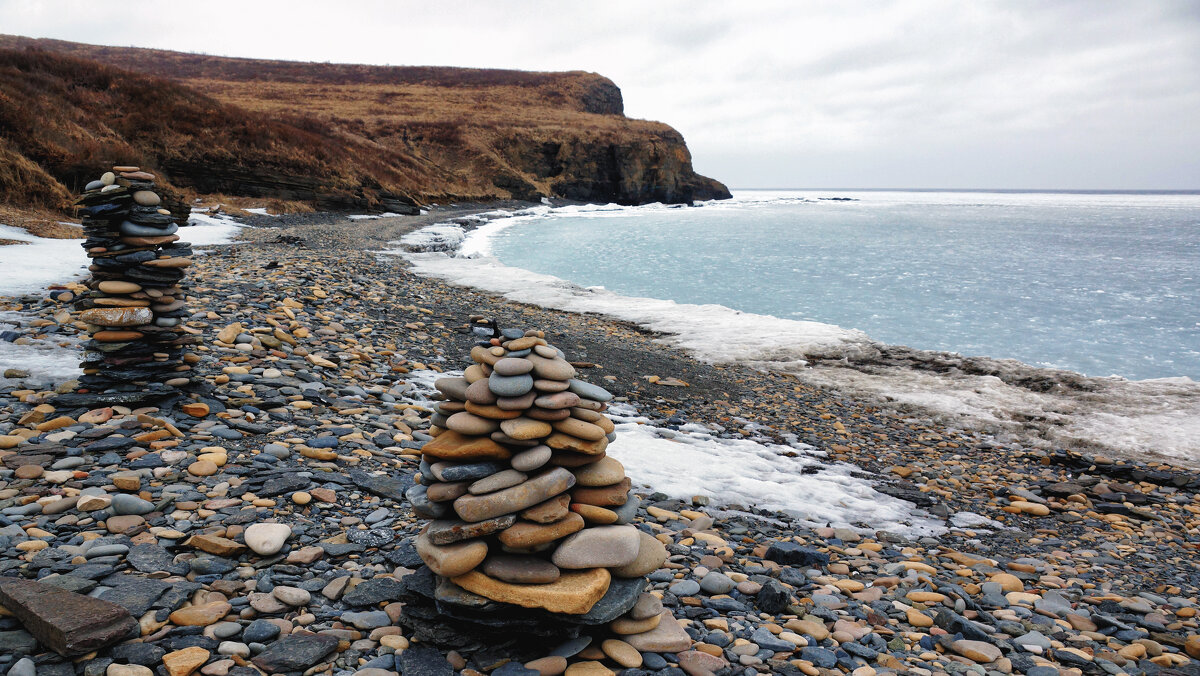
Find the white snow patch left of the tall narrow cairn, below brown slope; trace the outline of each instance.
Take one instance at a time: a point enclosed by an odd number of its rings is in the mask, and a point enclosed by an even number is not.
[[[82,240],[47,239],[0,225],[0,239],[28,244],[0,246],[0,295],[38,293],[82,277],[88,268]]]

